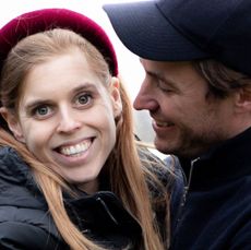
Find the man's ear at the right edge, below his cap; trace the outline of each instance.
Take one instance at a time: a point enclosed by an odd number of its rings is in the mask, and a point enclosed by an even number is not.
[[[244,86],[237,93],[236,108],[238,112],[251,111],[251,87]]]

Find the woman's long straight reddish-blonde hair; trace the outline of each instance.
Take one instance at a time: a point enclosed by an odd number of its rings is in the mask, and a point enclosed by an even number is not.
[[[55,28],[27,36],[10,51],[1,74],[2,106],[15,112],[22,93],[22,83],[31,69],[56,55],[69,52],[72,48],[79,48],[84,53],[93,71],[108,88],[111,76],[107,63],[109,59],[104,59],[101,53],[80,35],[71,31]],[[116,121],[117,142],[107,159],[106,165],[108,167],[105,170],[109,177],[111,191],[120,198],[128,211],[142,226],[141,249],[162,250],[166,246],[154,218],[154,198],[151,195],[146,182],[146,179],[152,179],[157,183],[157,179],[151,175],[148,168],[145,167],[146,164],[143,164],[139,158],[139,148],[134,140],[131,102],[122,84],[120,95],[123,108],[121,116]],[[70,221],[63,205],[62,190],[69,192],[71,190],[63,178],[49,166],[36,160],[23,144],[3,129],[0,130],[0,144],[14,147],[29,164],[38,187],[48,203],[55,224],[70,248],[73,250],[104,249],[88,240]],[[117,181],[118,178],[120,181]],[[162,202],[167,205],[168,199],[165,193],[167,192],[163,191]],[[168,223],[166,228],[168,228]]]

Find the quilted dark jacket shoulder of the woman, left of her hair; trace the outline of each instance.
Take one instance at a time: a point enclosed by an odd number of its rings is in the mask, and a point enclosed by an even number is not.
[[[11,147],[1,147],[0,165],[0,249],[56,249],[60,238],[31,170]]]

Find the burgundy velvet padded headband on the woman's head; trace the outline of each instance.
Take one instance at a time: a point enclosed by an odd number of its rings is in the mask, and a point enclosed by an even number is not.
[[[51,28],[71,29],[91,41],[107,60],[112,75],[118,62],[105,31],[87,16],[67,9],[41,9],[24,13],[0,29],[0,69],[9,51],[24,37]]]

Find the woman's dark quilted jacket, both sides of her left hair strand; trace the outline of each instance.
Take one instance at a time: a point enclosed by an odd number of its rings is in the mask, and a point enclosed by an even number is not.
[[[141,238],[140,225],[110,191],[82,193],[79,199],[65,195],[64,204],[83,234],[108,249],[122,249]],[[69,249],[29,168],[10,147],[0,150],[0,249]]]

